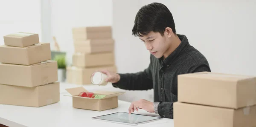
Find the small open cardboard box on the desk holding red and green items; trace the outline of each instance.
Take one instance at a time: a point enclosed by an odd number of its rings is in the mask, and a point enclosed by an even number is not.
[[[125,92],[96,91],[94,94],[106,95],[104,98],[86,98],[78,96],[80,92],[88,92],[84,87],[66,89],[72,96],[73,107],[85,110],[103,111],[118,107],[118,95]],[[68,95],[67,95],[68,96]]]

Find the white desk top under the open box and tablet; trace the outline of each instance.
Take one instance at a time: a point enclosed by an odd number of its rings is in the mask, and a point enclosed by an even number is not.
[[[0,104],[0,124],[10,127],[81,127],[94,125],[93,127],[131,127],[125,124],[115,124],[104,121],[93,120],[92,117],[116,112],[128,112],[130,102],[118,101],[118,107],[105,111],[92,111],[76,109],[72,107],[72,98],[64,96],[65,88],[77,87],[72,84],[61,84],[61,99],[58,103],[44,107],[23,107]],[[97,86],[98,87],[98,86]],[[93,86],[85,86],[93,90]],[[94,87],[95,88],[95,87]],[[104,87],[102,87],[104,88]],[[144,110],[134,112],[145,115],[155,115]],[[163,118],[146,124],[139,124],[140,127],[173,127],[173,120]]]

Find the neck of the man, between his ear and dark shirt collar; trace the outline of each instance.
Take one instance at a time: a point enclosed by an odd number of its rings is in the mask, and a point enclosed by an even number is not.
[[[177,35],[174,35],[172,38],[172,43],[169,46],[169,49],[167,49],[167,51],[163,54],[163,59],[167,58],[170,54],[172,54],[172,52],[175,51],[175,49],[177,49],[177,47],[180,45],[181,40]]]

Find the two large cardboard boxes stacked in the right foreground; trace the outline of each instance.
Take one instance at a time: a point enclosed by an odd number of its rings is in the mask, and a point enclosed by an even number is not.
[[[213,72],[178,75],[175,127],[256,127],[256,77]]]

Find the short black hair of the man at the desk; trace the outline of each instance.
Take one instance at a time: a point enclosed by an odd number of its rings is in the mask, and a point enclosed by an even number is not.
[[[143,6],[137,12],[132,35],[143,36],[149,32],[159,32],[163,36],[166,27],[170,27],[176,34],[172,13],[162,3],[151,3]]]

